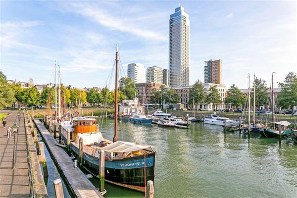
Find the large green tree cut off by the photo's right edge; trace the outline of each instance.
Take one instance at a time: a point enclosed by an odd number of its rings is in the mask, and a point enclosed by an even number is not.
[[[292,114],[293,106],[297,105],[297,75],[294,72],[289,72],[283,83],[278,83],[281,88],[281,93],[277,97],[278,102],[284,108],[291,107]]]

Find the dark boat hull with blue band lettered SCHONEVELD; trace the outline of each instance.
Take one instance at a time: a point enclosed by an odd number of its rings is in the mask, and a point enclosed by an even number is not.
[[[74,145],[71,145],[70,148],[78,155],[79,148]],[[99,178],[99,158],[84,152],[83,161],[84,167],[96,178]],[[145,184],[148,180],[154,180],[154,162],[155,153],[146,154],[146,159],[144,155],[112,161],[105,159],[104,180],[118,186],[145,192]]]

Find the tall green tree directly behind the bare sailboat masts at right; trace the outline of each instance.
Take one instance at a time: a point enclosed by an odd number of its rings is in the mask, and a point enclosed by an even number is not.
[[[266,85],[266,81],[261,78],[255,77],[253,85],[255,86],[256,91],[255,104],[258,106],[267,104],[268,87]],[[253,96],[253,88],[251,89],[251,96]],[[251,97],[250,102],[253,103],[253,97]]]

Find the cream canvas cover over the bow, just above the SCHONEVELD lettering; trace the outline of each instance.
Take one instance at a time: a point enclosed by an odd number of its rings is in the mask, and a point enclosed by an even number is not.
[[[132,152],[132,151],[142,150],[146,148],[151,148],[151,146],[137,145],[136,143],[118,141],[101,148],[101,150],[108,151],[108,152]]]

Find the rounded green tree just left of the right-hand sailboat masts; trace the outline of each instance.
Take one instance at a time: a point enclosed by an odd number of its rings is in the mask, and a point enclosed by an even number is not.
[[[225,98],[224,103],[238,107],[244,105],[245,98],[245,95],[243,95],[238,87],[233,84],[227,91],[227,97]]]

